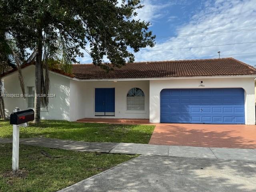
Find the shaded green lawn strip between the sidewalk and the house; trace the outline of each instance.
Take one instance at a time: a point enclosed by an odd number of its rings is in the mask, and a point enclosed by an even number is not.
[[[20,138],[46,137],[88,142],[148,143],[154,126],[76,123],[47,120],[20,128]],[[0,138],[12,137],[12,125],[0,121]]]

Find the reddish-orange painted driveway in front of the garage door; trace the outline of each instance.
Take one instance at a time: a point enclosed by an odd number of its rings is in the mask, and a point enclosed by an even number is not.
[[[149,144],[256,148],[256,125],[156,124]]]

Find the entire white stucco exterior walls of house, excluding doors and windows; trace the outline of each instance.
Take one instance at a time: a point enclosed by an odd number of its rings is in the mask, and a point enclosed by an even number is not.
[[[35,66],[22,70],[26,91],[34,86]],[[5,76],[4,93],[21,94],[18,72]],[[173,78],[169,80],[123,80],[123,81],[76,81],[50,73],[50,94],[48,111],[41,110],[41,119],[75,121],[80,118],[142,118],[150,122],[160,122],[160,92],[165,88],[243,88],[245,91],[245,123],[255,124],[254,77],[219,78]],[[126,95],[131,88],[138,87],[145,94],[145,110],[126,110]],[[115,116],[95,116],[95,88],[115,88]],[[28,108],[23,98],[4,98],[6,114],[10,115],[15,107]]]

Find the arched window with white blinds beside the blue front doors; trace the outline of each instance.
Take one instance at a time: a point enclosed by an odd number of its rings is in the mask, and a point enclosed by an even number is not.
[[[132,88],[126,97],[127,110],[144,110],[144,92],[139,88]]]

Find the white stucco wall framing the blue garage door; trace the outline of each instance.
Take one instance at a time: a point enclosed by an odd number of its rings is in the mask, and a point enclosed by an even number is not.
[[[160,92],[166,88],[243,88],[245,91],[245,124],[255,124],[254,78],[184,78],[150,80],[150,122],[160,122]]]

